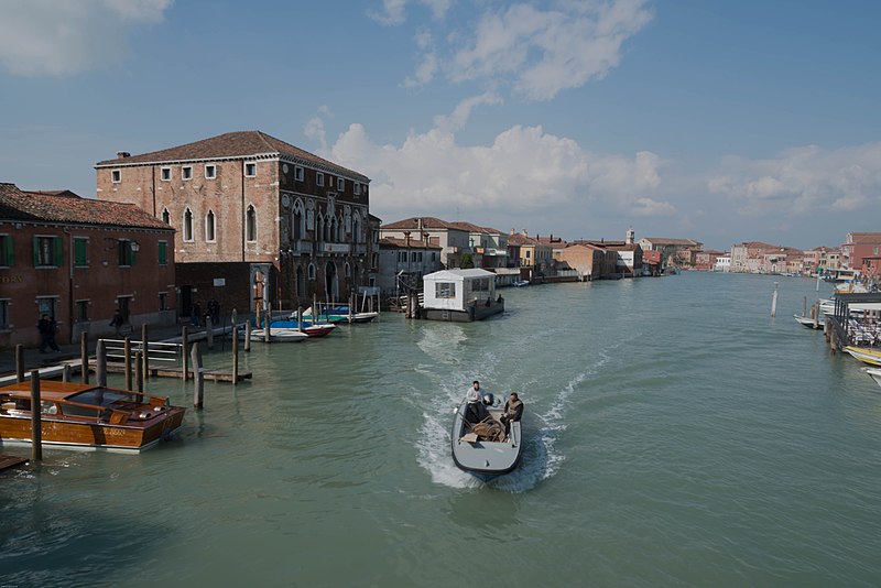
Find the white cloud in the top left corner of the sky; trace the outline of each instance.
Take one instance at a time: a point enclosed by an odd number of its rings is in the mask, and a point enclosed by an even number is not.
[[[172,0],[11,0],[0,9],[0,67],[69,76],[119,63],[126,35],[161,22]]]

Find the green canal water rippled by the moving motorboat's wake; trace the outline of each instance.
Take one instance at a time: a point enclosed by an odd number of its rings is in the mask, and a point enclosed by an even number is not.
[[[827,285],[503,295],[478,324],[384,314],[254,344],[253,380],[207,383],[177,439],[3,473],[0,585],[881,584],[881,389],[792,319]],[[449,455],[474,379],[526,404],[522,467],[490,483]],[[192,403],[192,384],[150,391]]]

